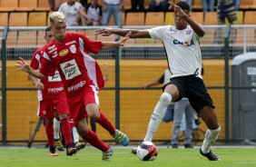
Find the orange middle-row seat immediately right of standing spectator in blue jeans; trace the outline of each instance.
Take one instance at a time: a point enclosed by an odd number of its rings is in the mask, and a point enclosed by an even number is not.
[[[144,25],[143,12],[129,12],[126,14],[125,25]]]

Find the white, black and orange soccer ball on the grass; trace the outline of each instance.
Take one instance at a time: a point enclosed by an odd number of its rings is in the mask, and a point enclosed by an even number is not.
[[[142,142],[137,147],[137,156],[141,161],[153,161],[157,153],[158,150],[153,142]]]

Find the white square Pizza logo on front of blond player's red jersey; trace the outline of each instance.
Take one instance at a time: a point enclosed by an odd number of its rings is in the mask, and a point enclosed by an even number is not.
[[[66,80],[71,80],[75,76],[78,76],[81,74],[78,65],[76,64],[75,60],[70,60],[68,62],[65,62],[63,64],[60,64],[61,69],[63,71],[63,74],[65,76]]]

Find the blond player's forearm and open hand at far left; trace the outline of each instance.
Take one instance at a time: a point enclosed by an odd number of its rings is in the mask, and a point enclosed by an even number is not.
[[[20,60],[16,61],[16,64],[15,64],[15,66],[18,68],[17,70],[19,71],[22,70],[25,73],[31,74],[36,78],[40,78],[40,79],[44,78],[44,74],[40,73],[40,71],[38,70],[34,70],[33,68],[31,68],[29,64],[27,64],[22,57],[19,57],[19,59]]]

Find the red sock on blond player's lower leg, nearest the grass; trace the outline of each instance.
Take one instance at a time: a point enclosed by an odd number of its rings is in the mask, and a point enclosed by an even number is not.
[[[101,150],[102,152],[107,152],[109,149],[108,144],[103,142],[96,133],[89,130],[89,133],[83,136],[84,141],[89,142],[91,145]]]

